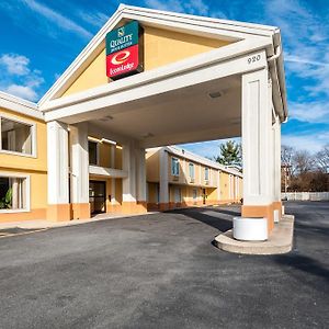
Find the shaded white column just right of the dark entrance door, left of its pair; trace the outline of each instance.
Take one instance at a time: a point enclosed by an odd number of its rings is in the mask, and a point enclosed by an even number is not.
[[[123,179],[123,202],[136,202],[136,157],[134,143],[123,145],[123,170],[127,172],[127,178]]]

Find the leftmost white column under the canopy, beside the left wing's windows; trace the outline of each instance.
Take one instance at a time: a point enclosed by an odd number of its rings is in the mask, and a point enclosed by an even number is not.
[[[57,121],[47,123],[48,204],[68,204],[68,129]]]

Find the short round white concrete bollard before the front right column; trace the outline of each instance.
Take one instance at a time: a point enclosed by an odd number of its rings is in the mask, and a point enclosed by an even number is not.
[[[234,217],[232,236],[242,241],[265,241],[269,238],[268,219]]]

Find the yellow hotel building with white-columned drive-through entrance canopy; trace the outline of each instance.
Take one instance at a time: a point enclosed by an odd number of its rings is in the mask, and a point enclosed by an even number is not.
[[[271,231],[282,208],[282,54],[275,26],[120,5],[38,103],[0,93],[0,222],[242,193],[242,217],[266,218]],[[241,137],[243,180],[166,147],[230,137]]]

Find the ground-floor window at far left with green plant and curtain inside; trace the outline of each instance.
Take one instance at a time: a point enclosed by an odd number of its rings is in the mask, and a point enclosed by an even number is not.
[[[0,212],[27,209],[27,178],[0,175]]]

